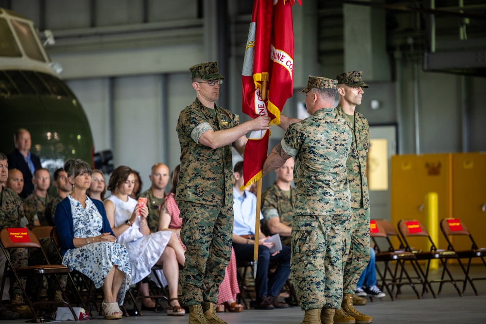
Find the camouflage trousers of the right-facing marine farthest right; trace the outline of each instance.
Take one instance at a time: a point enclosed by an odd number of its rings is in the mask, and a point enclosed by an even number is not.
[[[361,273],[369,263],[369,208],[351,208],[346,228],[343,292],[354,294]]]

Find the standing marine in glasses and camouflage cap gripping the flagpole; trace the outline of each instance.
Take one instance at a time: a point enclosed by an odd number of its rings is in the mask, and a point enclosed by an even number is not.
[[[269,129],[269,118],[240,124],[218,107],[223,76],[216,62],[190,68],[196,100],[177,121],[181,170],[176,200],[181,210],[181,238],[186,245],[184,302],[189,323],[226,323],[216,316],[218,288],[231,256],[233,233],[232,145],[243,154],[248,131]],[[203,316],[204,312],[204,316]]]

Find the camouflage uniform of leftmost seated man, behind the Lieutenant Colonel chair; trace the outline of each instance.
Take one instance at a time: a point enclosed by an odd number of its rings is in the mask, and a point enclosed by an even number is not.
[[[1,190],[1,207],[0,207],[0,228],[4,227],[22,227],[20,226],[24,218],[24,209],[18,195],[9,188],[3,187]],[[24,220],[25,221],[25,220]],[[26,248],[10,249],[10,259],[15,267],[26,267],[29,263],[29,250]],[[1,253],[1,252],[0,252]],[[1,271],[3,273],[3,270]],[[25,288],[26,279],[20,278],[22,286]],[[12,280],[12,293],[23,295],[17,280]]]

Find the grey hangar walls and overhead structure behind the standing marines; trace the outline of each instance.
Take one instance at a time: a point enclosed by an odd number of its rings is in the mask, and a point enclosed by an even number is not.
[[[52,32],[46,49],[84,106],[96,151],[111,149],[116,166],[140,171],[143,189],[154,163],[171,170],[179,163],[175,125],[195,98],[192,65],[218,61],[226,79],[217,103],[247,120],[241,70],[252,1],[0,0],[0,7]],[[372,137],[388,140],[388,158],[485,151],[484,1],[302,0],[293,15],[295,90],[284,114],[298,116],[308,75],[363,70],[369,88],[357,110]],[[273,127],[270,146],[282,136]],[[390,219],[389,182],[371,191],[372,218]]]

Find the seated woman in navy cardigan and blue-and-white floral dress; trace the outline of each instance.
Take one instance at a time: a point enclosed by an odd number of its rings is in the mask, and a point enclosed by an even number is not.
[[[91,168],[83,160],[69,159],[64,164],[72,192],[56,207],[54,222],[61,242],[62,264],[103,287],[105,319],[121,318],[119,304],[130,288],[131,268],[128,253],[106,218],[103,203],[86,195],[91,185]]]

